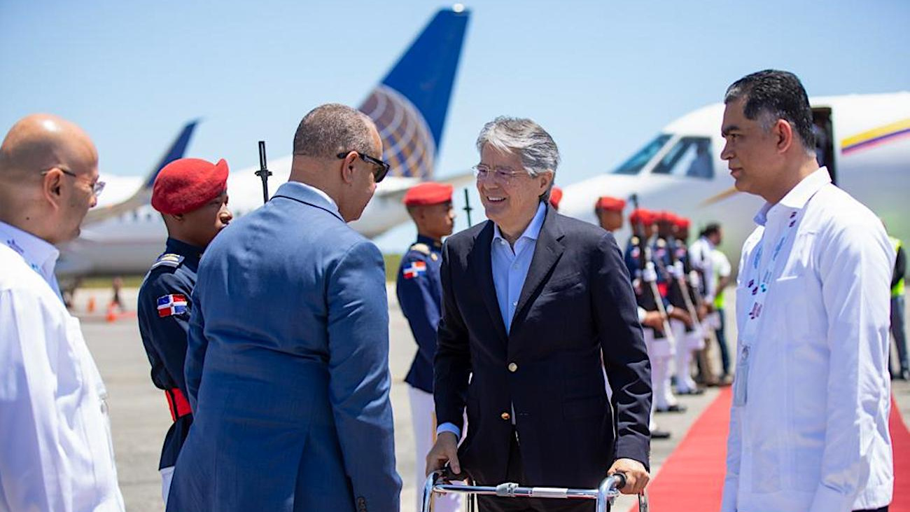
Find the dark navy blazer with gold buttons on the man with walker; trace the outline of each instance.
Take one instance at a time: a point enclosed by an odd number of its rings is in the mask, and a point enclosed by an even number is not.
[[[480,483],[505,481],[514,408],[522,484],[597,486],[618,457],[647,467],[651,367],[612,234],[548,207],[509,333],[492,236],[488,220],[450,237],[442,255],[434,397],[440,425],[462,425],[467,407],[461,466]]]

